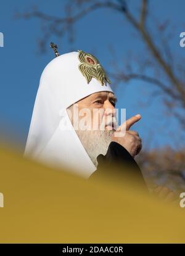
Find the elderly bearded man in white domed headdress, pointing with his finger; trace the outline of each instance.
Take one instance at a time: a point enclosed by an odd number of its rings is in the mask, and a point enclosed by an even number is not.
[[[117,99],[99,60],[83,51],[55,54],[41,75],[25,155],[84,178],[120,163],[142,179],[134,161],[141,139],[130,130],[141,116],[117,127]]]

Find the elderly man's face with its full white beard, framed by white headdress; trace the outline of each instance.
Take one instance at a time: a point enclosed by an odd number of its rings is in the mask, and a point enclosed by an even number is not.
[[[102,91],[91,94],[68,108],[73,128],[96,166],[97,156],[106,154],[112,134],[117,129],[116,101],[113,93]]]

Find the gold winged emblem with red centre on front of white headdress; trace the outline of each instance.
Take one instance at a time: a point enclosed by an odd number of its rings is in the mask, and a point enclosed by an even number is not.
[[[82,75],[86,78],[89,83],[92,77],[96,78],[102,86],[104,86],[105,81],[110,84],[110,80],[107,77],[104,68],[99,64],[99,60],[96,59],[92,54],[78,50],[78,59],[80,64],[78,68]]]

